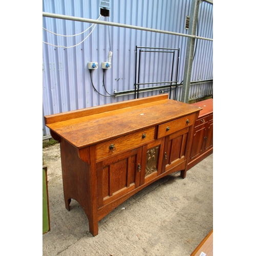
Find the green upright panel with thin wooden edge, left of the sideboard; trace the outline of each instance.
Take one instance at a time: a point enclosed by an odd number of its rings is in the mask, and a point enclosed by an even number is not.
[[[50,230],[50,216],[48,205],[47,167],[42,167],[42,233]]]

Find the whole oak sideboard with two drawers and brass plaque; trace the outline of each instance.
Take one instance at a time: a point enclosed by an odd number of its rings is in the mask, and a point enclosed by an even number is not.
[[[201,109],[168,94],[45,116],[60,142],[63,194],[84,209],[93,236],[98,222],[152,182],[186,176]]]

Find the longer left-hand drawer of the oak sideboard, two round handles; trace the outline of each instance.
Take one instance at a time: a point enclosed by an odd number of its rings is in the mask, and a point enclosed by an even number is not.
[[[137,147],[146,142],[152,141],[155,138],[155,126],[127,134],[122,137],[104,141],[96,145],[96,160],[104,157],[113,156],[129,148]]]

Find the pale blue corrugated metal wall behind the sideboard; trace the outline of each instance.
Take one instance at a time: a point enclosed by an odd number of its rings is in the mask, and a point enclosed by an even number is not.
[[[100,15],[99,0],[43,0],[42,11],[70,16],[97,19]],[[110,0],[110,17],[100,17],[114,23],[187,33],[186,16],[190,13],[190,0]],[[212,5],[202,2],[199,8],[198,36],[212,38]],[[74,35],[92,24],[71,20],[42,18],[42,26],[56,34]],[[94,25],[87,32],[73,37],[62,37],[42,30],[42,92],[43,116],[133,99],[134,94],[104,97],[114,90],[134,90],[135,49],[140,47],[179,48],[178,83],[183,80],[187,37],[152,33],[134,29]],[[89,35],[89,33],[92,33]],[[89,36],[88,36],[89,35]],[[88,36],[88,37],[87,37]],[[84,38],[86,38],[84,40]],[[84,40],[84,41],[83,41]],[[83,42],[82,42],[83,41]],[[79,44],[82,42],[81,44]],[[79,44],[79,45],[78,45]],[[75,46],[72,48],[67,48]],[[65,46],[57,47],[57,46]],[[191,81],[212,79],[212,41],[197,40]],[[112,68],[103,71],[101,62],[109,60],[112,51]],[[169,80],[169,56],[149,53],[141,56],[140,82]],[[92,87],[88,62],[97,61],[99,68],[92,71]],[[167,80],[165,80],[167,79]],[[159,94],[159,91],[141,93],[140,97]],[[212,94],[212,82],[190,87],[190,99]],[[178,100],[181,88],[178,90]],[[43,136],[49,135],[43,120]]]

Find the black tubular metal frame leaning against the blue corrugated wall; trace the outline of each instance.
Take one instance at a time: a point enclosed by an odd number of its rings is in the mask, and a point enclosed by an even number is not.
[[[137,80],[137,55],[138,55],[138,49],[151,49],[150,50],[139,50],[139,66],[138,66],[138,82],[136,83]],[[156,51],[157,50],[157,51]],[[160,50],[160,51],[158,51]],[[166,50],[166,51],[163,51]],[[172,70],[170,72],[170,81],[159,81],[159,82],[144,82],[144,83],[140,83],[140,60],[141,60],[141,52],[155,52],[155,53],[159,53],[159,52],[163,52],[163,53],[172,53],[174,54],[173,57],[173,63],[172,63]],[[173,70],[174,70],[174,59],[175,59],[175,54],[178,54],[177,56],[177,70],[176,70],[176,79],[173,80]],[[136,51],[135,51],[135,83],[134,83],[134,98],[136,99],[136,94],[137,94],[137,98],[139,98],[139,86],[141,84],[155,84],[155,83],[169,83],[169,87],[170,87],[170,91],[169,91],[169,98],[170,98],[170,94],[171,94],[171,90],[172,87],[175,87],[175,94],[174,94],[174,99],[176,100],[177,98],[177,83],[178,83],[178,70],[179,70],[179,58],[180,58],[180,48],[157,48],[157,47],[140,47],[140,46],[136,46]],[[150,88],[148,88],[150,89]],[[152,90],[154,90],[154,87],[152,87]]]

